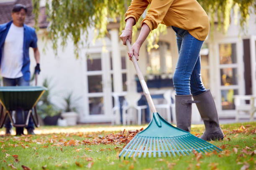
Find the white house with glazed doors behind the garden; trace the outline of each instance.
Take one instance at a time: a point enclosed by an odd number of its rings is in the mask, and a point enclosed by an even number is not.
[[[0,1],[0,23],[10,20],[10,11],[14,3],[23,3],[29,7],[26,20],[34,24],[30,0]],[[1,3],[2,2],[2,3]],[[4,11],[5,10],[5,11]],[[45,78],[51,78],[51,100],[58,107],[63,107],[63,97],[73,92],[80,97],[77,103],[79,122],[110,122],[113,118],[113,92],[135,92],[140,90],[136,81],[133,64],[127,57],[127,48],[119,40],[117,23],[108,25],[109,35],[102,40],[93,39],[93,29],[89,29],[89,48],[80,51],[79,59],[74,55],[72,42],[58,48],[54,54],[50,40],[45,40],[46,15],[41,7],[39,17],[40,30],[38,47],[41,52],[41,74],[39,84]],[[213,37],[207,37],[201,51],[202,80],[210,88],[214,97],[219,117],[234,118],[236,115],[234,95],[256,95],[256,15],[252,13],[245,33],[231,18],[226,34],[214,30]],[[176,37],[172,28],[159,37],[159,48],[146,50],[146,42],[141,47],[138,61],[143,75],[152,80],[150,92],[172,89],[172,75],[178,59]],[[44,49],[44,50],[43,50]],[[43,52],[44,51],[44,52]],[[89,58],[87,57],[89,55]],[[31,58],[32,58],[31,50]],[[31,59],[32,60],[32,59]],[[35,61],[31,61],[31,70]],[[165,84],[154,83],[166,80]],[[164,82],[163,82],[164,83]],[[200,122],[200,116],[193,105],[192,120]]]

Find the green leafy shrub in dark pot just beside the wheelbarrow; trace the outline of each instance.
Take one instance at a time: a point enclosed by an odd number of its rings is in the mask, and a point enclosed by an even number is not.
[[[44,79],[43,86],[48,88],[40,98],[36,107],[38,114],[44,119],[46,116],[55,116],[59,114],[56,106],[50,101],[51,89],[49,79]]]

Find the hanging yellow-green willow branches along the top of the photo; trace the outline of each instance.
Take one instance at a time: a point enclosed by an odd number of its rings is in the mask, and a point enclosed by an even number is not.
[[[239,24],[244,30],[249,13],[256,11],[255,0],[197,0],[210,16],[211,29],[217,18],[218,29],[226,32],[230,25],[230,13],[239,16]],[[40,0],[32,0],[33,13],[36,19],[39,14]],[[117,22],[120,18],[120,31],[125,26],[124,14],[131,0],[46,0],[46,14],[50,22],[48,36],[56,52],[58,41],[65,47],[72,40],[75,54],[79,56],[79,47],[87,41],[88,28],[95,28],[95,38],[105,37],[107,25]],[[136,32],[141,25],[141,19],[133,30]],[[36,24],[37,24],[36,20]],[[166,32],[165,25],[151,32],[148,36],[148,50],[157,47],[158,37]],[[134,34],[136,36],[136,34]],[[134,38],[133,38],[134,40]]]

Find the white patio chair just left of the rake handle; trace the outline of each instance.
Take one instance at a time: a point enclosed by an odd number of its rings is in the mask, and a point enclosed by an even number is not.
[[[134,108],[138,111],[137,122],[138,122],[138,125],[141,125],[142,110],[148,107],[147,105],[141,105],[141,106],[137,105],[138,100],[140,100],[141,98],[141,94],[137,92],[129,92],[124,97],[125,97],[126,105],[123,105],[122,107],[123,108],[123,125],[126,125],[126,122],[127,122],[127,125],[130,125],[131,121],[134,123],[134,120],[135,120],[134,116],[132,112],[129,112],[128,110],[131,108]]]

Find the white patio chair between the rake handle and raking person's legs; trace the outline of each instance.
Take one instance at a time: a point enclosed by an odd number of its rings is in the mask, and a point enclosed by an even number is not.
[[[174,96],[173,96],[174,95]],[[163,104],[156,104],[156,109],[166,109],[166,117],[168,122],[172,122],[171,114],[173,118],[173,123],[176,123],[176,115],[175,115],[175,102],[172,102],[172,98],[175,99],[175,91],[173,90],[166,90],[164,92],[164,100],[165,103]],[[172,110],[172,112],[171,112]]]

